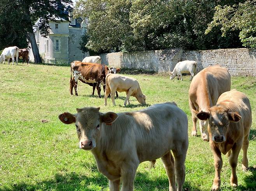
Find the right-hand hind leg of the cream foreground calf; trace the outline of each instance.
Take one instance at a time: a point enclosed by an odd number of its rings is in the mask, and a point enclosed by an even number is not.
[[[185,140],[181,144],[177,144],[173,151],[174,153],[174,166],[175,166],[175,177],[177,183],[177,191],[182,191],[182,186],[185,182],[185,160],[188,150],[188,140]]]

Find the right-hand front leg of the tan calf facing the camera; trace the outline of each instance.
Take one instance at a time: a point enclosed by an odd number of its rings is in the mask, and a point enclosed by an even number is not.
[[[241,147],[242,143],[235,144],[229,158],[229,163],[231,166],[230,186],[237,186],[237,158]]]

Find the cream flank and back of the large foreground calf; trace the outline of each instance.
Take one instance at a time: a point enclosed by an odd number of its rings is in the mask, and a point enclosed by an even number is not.
[[[140,162],[155,160],[175,147],[188,144],[187,115],[175,103],[156,104],[137,112],[119,113],[111,128],[105,128],[107,154],[124,158],[138,155]]]

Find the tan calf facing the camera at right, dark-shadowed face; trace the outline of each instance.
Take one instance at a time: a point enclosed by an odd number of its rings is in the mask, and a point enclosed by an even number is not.
[[[230,155],[232,168],[230,185],[237,186],[237,158],[242,148],[242,169],[248,169],[247,149],[249,132],[252,124],[252,110],[249,99],[244,93],[236,91],[224,92],[219,96],[215,106],[209,112],[200,112],[197,117],[208,121],[210,146],[214,156],[215,177],[212,190],[217,190],[221,184],[221,153]]]

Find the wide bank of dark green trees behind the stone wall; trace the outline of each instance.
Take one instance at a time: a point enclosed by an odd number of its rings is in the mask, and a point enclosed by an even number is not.
[[[97,52],[165,48],[238,48],[238,31],[205,34],[217,5],[236,0],[78,0],[75,15],[89,18],[86,47]],[[85,44],[85,43],[84,43]]]

